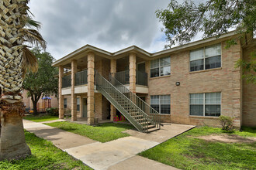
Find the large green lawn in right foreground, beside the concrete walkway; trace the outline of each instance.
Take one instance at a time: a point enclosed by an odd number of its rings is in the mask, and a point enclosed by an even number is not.
[[[140,155],[182,169],[256,169],[256,142],[225,143],[195,138],[225,134],[220,128],[194,128]],[[256,129],[235,131],[242,137],[256,137]]]

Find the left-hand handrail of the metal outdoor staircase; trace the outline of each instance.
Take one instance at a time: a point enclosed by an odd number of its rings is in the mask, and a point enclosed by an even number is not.
[[[119,94],[121,94],[123,96],[123,98],[125,98],[126,100],[128,100],[130,102],[130,104],[133,104],[133,107],[135,107],[137,110],[140,111],[141,114],[143,114],[143,117],[146,118],[146,121],[150,120],[150,116],[147,115],[146,113],[144,113],[144,110],[141,110],[140,107],[138,107],[136,104],[133,103],[132,100],[130,100],[128,97],[126,97],[126,95],[124,95],[120,90],[118,90],[112,83],[109,82],[109,80],[106,80],[106,78],[104,76],[102,76],[101,74],[99,74],[98,72],[95,73],[96,75],[96,85],[100,87],[99,85],[99,80],[98,77],[101,77],[103,80],[105,80],[107,83],[109,83],[109,85],[114,88],[114,90],[118,91]],[[102,87],[101,87],[102,88]],[[103,89],[102,89],[103,90]],[[118,103],[117,103],[118,104]],[[119,104],[120,105],[120,104]],[[120,105],[121,106],[121,105]],[[122,107],[122,106],[121,106]],[[148,125],[145,124],[146,126],[142,126],[141,124],[139,124],[141,126],[141,128],[143,128],[144,131],[147,131],[148,129]]]

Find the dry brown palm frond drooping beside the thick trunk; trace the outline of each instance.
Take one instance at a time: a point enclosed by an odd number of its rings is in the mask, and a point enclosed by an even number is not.
[[[31,51],[24,47],[22,49],[22,76],[24,77],[26,72],[32,71],[36,72],[38,69],[36,56],[31,53]]]

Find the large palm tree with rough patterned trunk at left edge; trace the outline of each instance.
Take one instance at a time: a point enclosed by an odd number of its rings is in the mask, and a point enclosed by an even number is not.
[[[39,22],[29,15],[29,0],[0,1],[0,161],[31,155],[26,145],[22,116],[21,87],[26,70],[36,70],[36,57],[29,43],[44,49],[46,42],[36,30]]]

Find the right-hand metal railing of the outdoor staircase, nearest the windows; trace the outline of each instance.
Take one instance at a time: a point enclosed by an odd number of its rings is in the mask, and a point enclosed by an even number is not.
[[[149,104],[147,104],[144,100],[140,99],[140,97],[138,97],[135,93],[131,92],[128,88],[126,88],[123,83],[120,83],[119,80],[116,80],[116,78],[114,76],[112,76],[112,73],[109,74],[109,82],[112,83],[112,85],[114,87],[116,87],[116,83],[118,87],[121,87],[121,90],[123,90],[123,92],[121,91],[121,93],[129,93],[131,95],[131,98],[133,101],[136,101],[136,105],[137,105],[137,100],[139,101],[138,104],[140,107],[140,110],[143,110],[145,114],[149,114],[149,116],[151,116],[150,114],[153,114],[153,121],[152,123],[154,123],[156,125],[156,128],[161,128],[160,124],[161,124],[161,114],[159,114],[157,112],[157,110],[155,110],[153,107],[151,107]],[[135,100],[134,100],[135,99]],[[144,107],[143,108],[143,104],[148,108]]]

